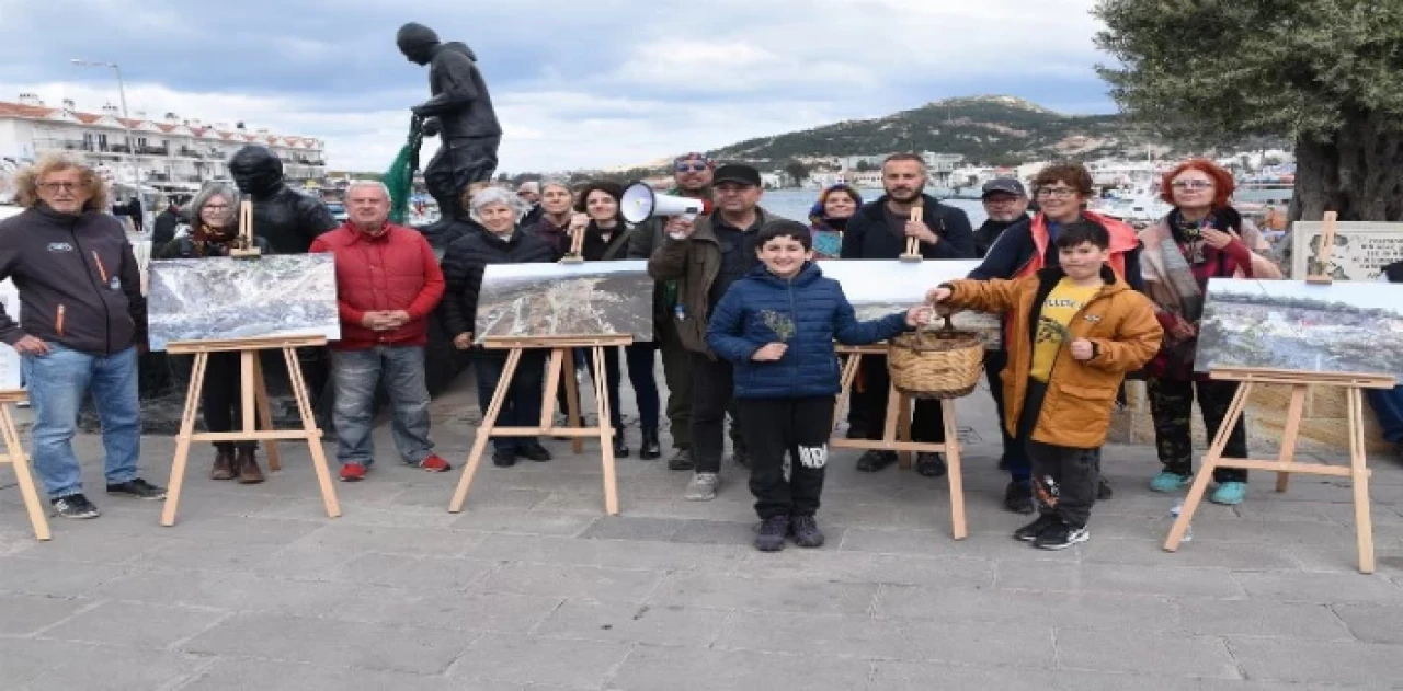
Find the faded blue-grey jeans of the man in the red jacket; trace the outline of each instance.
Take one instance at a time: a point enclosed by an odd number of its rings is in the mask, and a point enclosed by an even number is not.
[[[365,350],[331,350],[335,383],[333,418],[337,426],[337,461],[342,465],[375,463],[375,391],[384,381],[394,408],[390,430],[400,458],[418,464],[434,451],[429,442],[429,391],[424,383],[422,346],[375,346]]]

